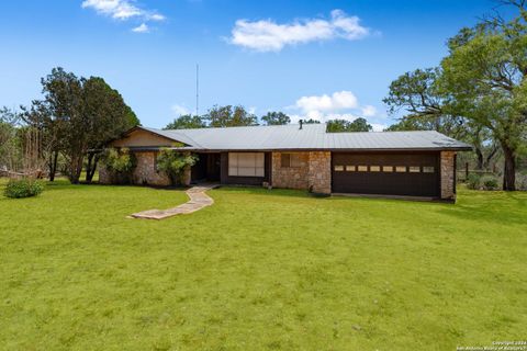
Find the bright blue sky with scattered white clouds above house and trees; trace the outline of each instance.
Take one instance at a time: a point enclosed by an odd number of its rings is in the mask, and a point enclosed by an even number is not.
[[[103,77],[144,125],[214,104],[258,116],[394,118],[390,82],[446,54],[491,0],[24,0],[0,2],[0,106],[41,95],[61,66]]]

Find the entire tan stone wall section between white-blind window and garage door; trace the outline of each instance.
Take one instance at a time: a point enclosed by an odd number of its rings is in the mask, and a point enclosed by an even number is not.
[[[332,154],[326,151],[294,154],[300,158],[300,166],[283,168],[282,152],[272,152],[272,186],[329,194],[332,192]]]

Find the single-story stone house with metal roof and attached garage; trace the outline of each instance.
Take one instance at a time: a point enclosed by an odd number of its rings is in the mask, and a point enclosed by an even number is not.
[[[161,148],[197,155],[187,183],[270,185],[314,193],[456,197],[456,152],[464,143],[437,132],[327,133],[325,124],[162,131],[135,127],[110,143],[135,152],[134,183],[168,185]],[[100,181],[110,177],[100,170]]]

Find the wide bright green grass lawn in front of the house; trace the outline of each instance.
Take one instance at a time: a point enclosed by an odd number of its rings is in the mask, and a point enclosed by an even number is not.
[[[1,185],[0,185],[1,188]],[[1,189],[0,189],[1,190]],[[4,350],[455,350],[527,338],[527,194],[456,205],[48,185],[0,196]]]

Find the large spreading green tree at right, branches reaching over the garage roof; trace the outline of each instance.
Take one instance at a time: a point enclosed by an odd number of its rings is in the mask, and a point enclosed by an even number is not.
[[[527,11],[524,1],[509,21],[500,16],[461,29],[448,41],[449,53],[437,68],[404,73],[384,99],[391,114],[404,110],[389,129],[435,129],[483,149],[502,148],[504,190],[515,190],[516,160],[527,128]]]

